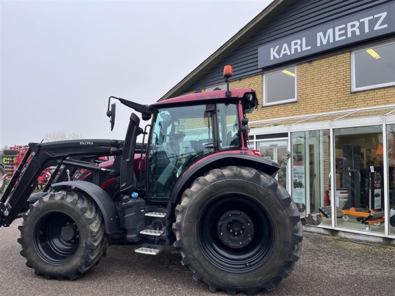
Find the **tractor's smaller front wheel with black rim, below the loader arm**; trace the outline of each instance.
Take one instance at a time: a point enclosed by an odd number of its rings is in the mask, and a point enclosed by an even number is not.
[[[30,205],[18,228],[26,265],[46,278],[75,279],[107,249],[100,209],[82,192],[48,193]]]

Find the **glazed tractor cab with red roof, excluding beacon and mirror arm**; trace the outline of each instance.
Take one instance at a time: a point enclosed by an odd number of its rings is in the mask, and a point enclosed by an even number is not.
[[[173,99],[153,105],[158,109],[147,151],[150,199],[168,198],[177,179],[199,159],[247,149],[248,129],[240,129],[246,125],[242,101],[226,98],[224,92],[194,94],[184,97],[185,102]],[[224,99],[212,99],[216,97]]]

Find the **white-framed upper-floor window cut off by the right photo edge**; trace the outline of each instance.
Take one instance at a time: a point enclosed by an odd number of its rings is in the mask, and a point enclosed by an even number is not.
[[[353,51],[352,90],[395,85],[395,42]]]

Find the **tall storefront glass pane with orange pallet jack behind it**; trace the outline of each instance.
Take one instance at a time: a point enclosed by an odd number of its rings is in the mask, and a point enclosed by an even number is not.
[[[336,226],[384,233],[382,126],[335,129],[334,136]]]

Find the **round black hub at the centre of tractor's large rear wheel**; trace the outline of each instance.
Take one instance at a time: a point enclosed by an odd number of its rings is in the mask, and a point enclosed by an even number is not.
[[[222,243],[240,249],[247,246],[254,236],[254,225],[241,211],[228,211],[218,221],[218,236]]]

